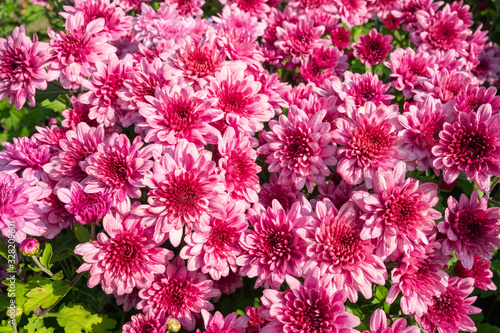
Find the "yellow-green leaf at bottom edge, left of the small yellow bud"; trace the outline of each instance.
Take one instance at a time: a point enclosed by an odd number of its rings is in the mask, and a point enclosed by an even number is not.
[[[58,313],[54,314],[57,322],[64,327],[66,333],[108,333],[115,328],[116,321],[107,315],[92,314],[79,304],[63,305]]]

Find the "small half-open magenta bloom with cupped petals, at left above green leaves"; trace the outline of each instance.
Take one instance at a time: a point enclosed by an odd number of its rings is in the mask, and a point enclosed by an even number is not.
[[[57,197],[75,220],[83,225],[98,223],[109,212],[112,198],[104,192],[85,193],[83,186],[73,181],[71,187],[57,190]]]

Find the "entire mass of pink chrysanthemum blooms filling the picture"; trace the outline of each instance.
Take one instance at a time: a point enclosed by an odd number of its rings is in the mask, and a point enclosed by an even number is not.
[[[97,228],[77,272],[142,311],[126,332],[169,318],[197,332],[357,332],[346,300],[386,284],[425,332],[474,332],[468,296],[496,289],[500,247],[500,208],[483,194],[500,177],[500,48],[471,30],[469,7],[221,3],[208,19],[202,0],[76,0],[50,42],[23,27],[0,39],[0,99],[34,105],[51,81],[74,95],[61,126],[4,143],[2,234]],[[375,18],[412,47],[377,29],[351,44],[344,26]],[[438,211],[439,181],[460,174],[478,189]],[[259,309],[213,312],[251,278]],[[418,331],[391,323],[379,309],[371,332]]]

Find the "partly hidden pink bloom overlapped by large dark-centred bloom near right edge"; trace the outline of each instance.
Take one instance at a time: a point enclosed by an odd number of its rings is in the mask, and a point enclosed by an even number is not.
[[[411,105],[409,110],[399,116],[403,127],[400,136],[405,140],[403,147],[412,153],[411,159],[406,159],[407,167],[421,171],[433,167],[435,159],[432,148],[439,142],[439,132],[445,123],[455,119],[453,102],[442,105],[439,100],[428,96],[424,103]],[[439,171],[436,170],[436,174]]]

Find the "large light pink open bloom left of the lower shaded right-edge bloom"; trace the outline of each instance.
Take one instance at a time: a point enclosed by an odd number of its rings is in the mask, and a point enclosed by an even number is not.
[[[406,178],[406,165],[399,162],[393,172],[380,172],[373,180],[374,194],[356,191],[352,198],[363,211],[362,239],[375,240],[375,253],[386,258],[407,253],[414,244],[428,242],[427,234],[441,213],[431,208],[438,202],[438,186]],[[393,254],[394,255],[394,254]]]

